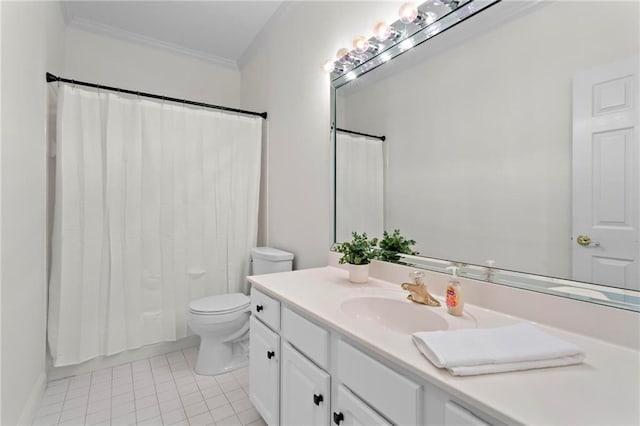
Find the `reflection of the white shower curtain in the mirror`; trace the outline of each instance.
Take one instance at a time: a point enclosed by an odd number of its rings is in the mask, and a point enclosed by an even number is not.
[[[382,142],[338,132],[336,135],[336,241],[353,231],[380,237],[384,227]]]

